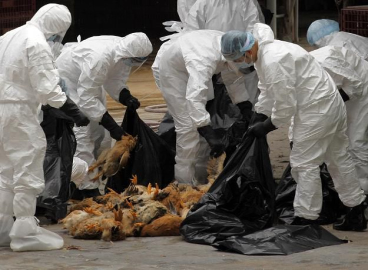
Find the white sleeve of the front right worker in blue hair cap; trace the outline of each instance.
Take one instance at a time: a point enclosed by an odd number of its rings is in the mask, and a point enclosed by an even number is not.
[[[294,68],[288,70],[278,63],[271,63],[265,68],[265,89],[267,93],[272,93],[274,100],[271,121],[275,127],[288,124],[296,112],[295,74],[292,70]]]

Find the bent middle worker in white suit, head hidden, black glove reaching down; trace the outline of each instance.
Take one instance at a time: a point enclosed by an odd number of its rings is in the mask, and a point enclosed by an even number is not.
[[[198,30],[178,35],[162,45],[165,49],[158,54],[160,58],[155,60],[155,68],[152,67],[156,84],[174,120],[175,179],[178,182],[204,182],[209,155],[219,156],[224,151],[205,110],[206,102],[214,96],[212,75],[227,69],[220,53],[222,34]]]

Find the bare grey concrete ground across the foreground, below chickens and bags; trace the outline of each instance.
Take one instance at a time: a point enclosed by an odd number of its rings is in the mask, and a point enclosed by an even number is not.
[[[287,256],[246,256],[187,243],[180,236],[130,237],[113,243],[79,240],[61,225],[49,225],[47,229],[64,238],[64,248],[13,252],[0,247],[0,269],[368,269],[368,233],[326,227],[351,242]],[[79,249],[68,250],[72,245]]]

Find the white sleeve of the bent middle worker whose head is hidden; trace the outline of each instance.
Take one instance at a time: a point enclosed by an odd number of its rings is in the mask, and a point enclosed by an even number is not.
[[[187,110],[193,124],[202,127],[210,124],[209,113],[205,109],[208,86],[212,84],[212,75],[216,67],[204,66],[199,61],[185,59],[189,79],[186,85],[185,99]]]

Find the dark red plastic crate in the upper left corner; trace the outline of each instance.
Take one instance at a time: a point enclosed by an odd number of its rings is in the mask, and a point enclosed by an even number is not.
[[[35,13],[35,0],[0,1],[0,35],[24,25]]]

